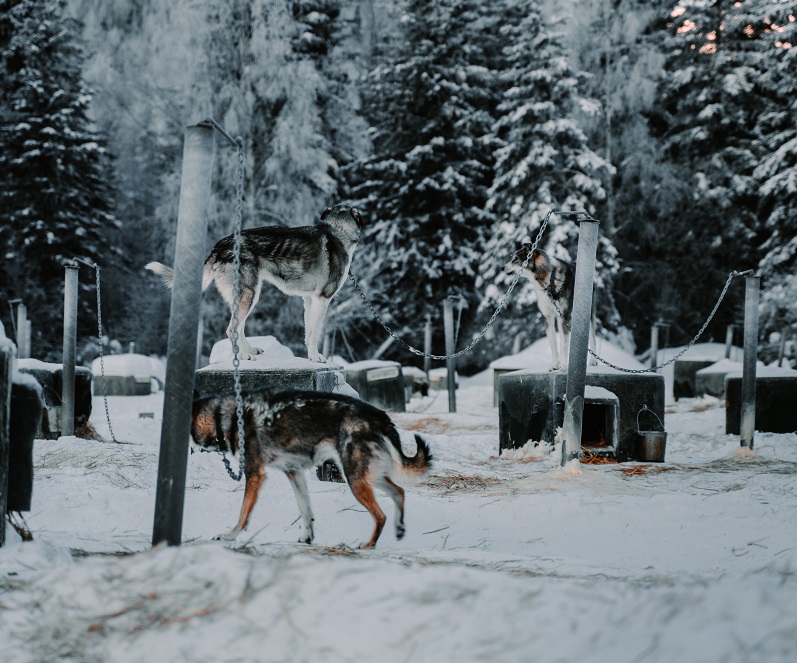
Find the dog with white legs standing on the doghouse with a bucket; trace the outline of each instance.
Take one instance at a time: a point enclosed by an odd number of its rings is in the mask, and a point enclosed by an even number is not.
[[[522,275],[531,281],[537,294],[537,306],[545,320],[545,335],[551,346],[551,370],[567,370],[576,270],[567,260],[557,260],[539,249],[534,249],[526,268],[523,269],[523,263],[526,262],[530,250],[531,244],[524,244],[518,249],[507,264],[506,271],[517,274],[522,270]],[[596,351],[594,315],[590,321],[589,347],[592,352]],[[590,357],[589,363],[594,366],[597,361],[594,357]]]

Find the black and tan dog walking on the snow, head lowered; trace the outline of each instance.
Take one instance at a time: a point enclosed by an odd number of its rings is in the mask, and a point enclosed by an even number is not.
[[[395,480],[420,478],[429,471],[432,454],[420,435],[415,435],[415,455],[406,456],[385,412],[342,394],[248,391],[243,406],[244,501],[238,524],[217,539],[234,540],[246,529],[265,468],[271,466],[285,472],[296,496],[303,520],[299,542],[312,543],[313,513],[303,471],[325,460],[338,465],[354,497],[374,518],[371,539],[361,548],[373,548],[385,525],[374,487],[395,502],[396,538],[404,536],[404,489]],[[235,397],[195,400],[191,436],[201,447],[235,454],[240,444]]]

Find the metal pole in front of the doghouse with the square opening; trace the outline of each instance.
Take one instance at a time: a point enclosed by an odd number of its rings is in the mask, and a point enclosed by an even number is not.
[[[592,314],[592,282],[598,250],[598,221],[580,221],[576,258],[575,293],[570,325],[570,355],[567,361],[565,417],[562,424],[564,444],[562,465],[578,460],[584,418],[584,387],[587,379],[587,350]]]

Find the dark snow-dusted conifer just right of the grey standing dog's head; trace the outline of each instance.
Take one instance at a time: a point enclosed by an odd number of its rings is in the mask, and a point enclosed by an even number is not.
[[[478,301],[494,220],[486,201],[495,20],[475,0],[412,0],[396,52],[364,83],[373,156],[350,170],[368,224],[353,270],[416,347],[425,314],[436,316],[446,296]]]

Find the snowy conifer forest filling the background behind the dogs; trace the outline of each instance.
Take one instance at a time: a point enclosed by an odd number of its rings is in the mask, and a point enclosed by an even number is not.
[[[362,213],[351,270],[381,318],[443,351],[512,281],[548,211],[599,219],[600,333],[687,343],[733,270],[762,277],[762,358],[797,332],[797,0],[0,0],[0,321],[60,358],[63,260],[101,267],[105,333],[164,354],[185,127],[243,139],[245,228]],[[208,249],[232,232],[237,153],[217,141]],[[555,215],[541,246],[575,258]],[[79,347],[97,335],[80,271]],[[706,340],[741,324],[729,289]],[[202,299],[204,352],[229,320]],[[327,331],[348,360],[418,359],[350,283]],[[264,287],[247,334],[304,356],[302,303]],[[544,335],[520,281],[463,373]]]

